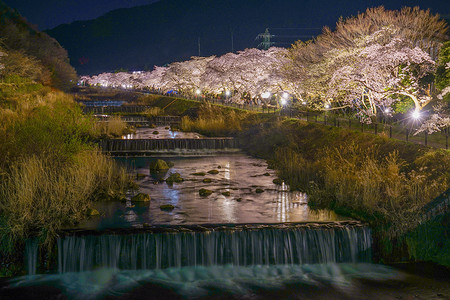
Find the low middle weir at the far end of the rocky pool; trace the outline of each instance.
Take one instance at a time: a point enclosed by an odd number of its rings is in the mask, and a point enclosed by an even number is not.
[[[225,153],[239,149],[238,140],[234,138],[111,139],[101,140],[99,146],[113,155]]]

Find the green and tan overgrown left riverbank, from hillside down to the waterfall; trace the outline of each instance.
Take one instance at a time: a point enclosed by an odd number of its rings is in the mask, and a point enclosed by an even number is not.
[[[0,276],[23,272],[28,238],[50,246],[94,201],[122,199],[130,182],[93,143],[112,128],[82,114],[54,89],[65,77],[47,81],[47,72],[32,54],[0,47]]]

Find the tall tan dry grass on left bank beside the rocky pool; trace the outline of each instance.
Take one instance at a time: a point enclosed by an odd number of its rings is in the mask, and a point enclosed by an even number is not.
[[[2,248],[33,232],[51,244],[58,229],[86,217],[92,201],[121,196],[128,182],[125,171],[97,151],[82,151],[62,167],[43,157],[19,159],[0,183],[7,224],[1,228]]]

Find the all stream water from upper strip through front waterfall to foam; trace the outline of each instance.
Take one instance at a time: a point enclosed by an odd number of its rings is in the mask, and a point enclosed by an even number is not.
[[[203,137],[160,127],[124,138]],[[370,264],[367,226],[309,209],[263,160],[198,153],[163,157],[174,163],[164,173],[150,172],[156,157],[116,158],[151,201],[99,202],[100,216],[61,233],[53,262],[28,240],[29,275],[0,280],[0,299],[449,299],[448,272]],[[167,184],[171,173],[184,181]]]

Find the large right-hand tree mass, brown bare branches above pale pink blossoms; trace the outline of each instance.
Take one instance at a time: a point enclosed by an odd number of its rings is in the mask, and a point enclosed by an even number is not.
[[[295,43],[283,71],[315,109],[351,107],[367,122],[377,108],[399,101],[419,111],[432,99],[424,79],[434,71],[447,28],[419,8],[368,9],[339,20],[335,31],[324,28],[315,40]]]

